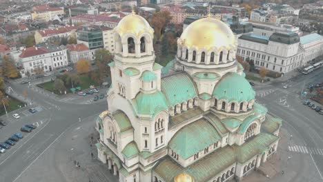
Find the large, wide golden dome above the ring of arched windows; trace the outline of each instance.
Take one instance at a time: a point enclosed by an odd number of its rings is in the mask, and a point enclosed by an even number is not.
[[[190,23],[177,41],[183,47],[198,50],[228,47],[235,45],[235,35],[222,21],[204,18]]]

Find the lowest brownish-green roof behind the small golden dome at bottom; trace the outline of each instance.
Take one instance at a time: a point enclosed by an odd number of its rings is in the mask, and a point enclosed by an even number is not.
[[[156,165],[154,171],[165,181],[174,181],[174,177],[182,172],[193,176],[195,181],[210,181],[216,174],[235,163],[235,151],[231,147],[219,148],[204,156],[203,159],[183,168],[170,157]]]

